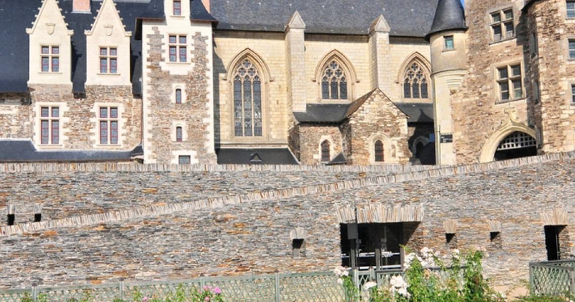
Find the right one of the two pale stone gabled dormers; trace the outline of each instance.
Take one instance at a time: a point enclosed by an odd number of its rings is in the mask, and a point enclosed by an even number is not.
[[[104,0],[86,34],[86,85],[130,85],[130,37],[112,0]]]

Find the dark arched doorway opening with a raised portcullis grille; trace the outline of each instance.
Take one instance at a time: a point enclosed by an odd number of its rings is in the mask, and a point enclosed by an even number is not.
[[[513,158],[537,155],[537,141],[531,135],[515,131],[505,137],[497,146],[493,159],[511,160]]]

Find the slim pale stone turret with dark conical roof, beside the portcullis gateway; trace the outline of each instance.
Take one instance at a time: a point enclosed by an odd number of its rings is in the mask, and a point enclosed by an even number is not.
[[[431,47],[437,164],[455,164],[451,94],[467,73],[465,13],[459,0],[439,0],[427,40]]]

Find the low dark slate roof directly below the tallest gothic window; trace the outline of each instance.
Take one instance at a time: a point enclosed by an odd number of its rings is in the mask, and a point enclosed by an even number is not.
[[[216,149],[220,165],[297,165],[287,148],[221,148]]]

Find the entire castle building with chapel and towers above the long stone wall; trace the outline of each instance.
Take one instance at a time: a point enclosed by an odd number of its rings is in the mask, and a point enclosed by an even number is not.
[[[0,161],[461,164],[575,149],[569,0],[0,7]]]

